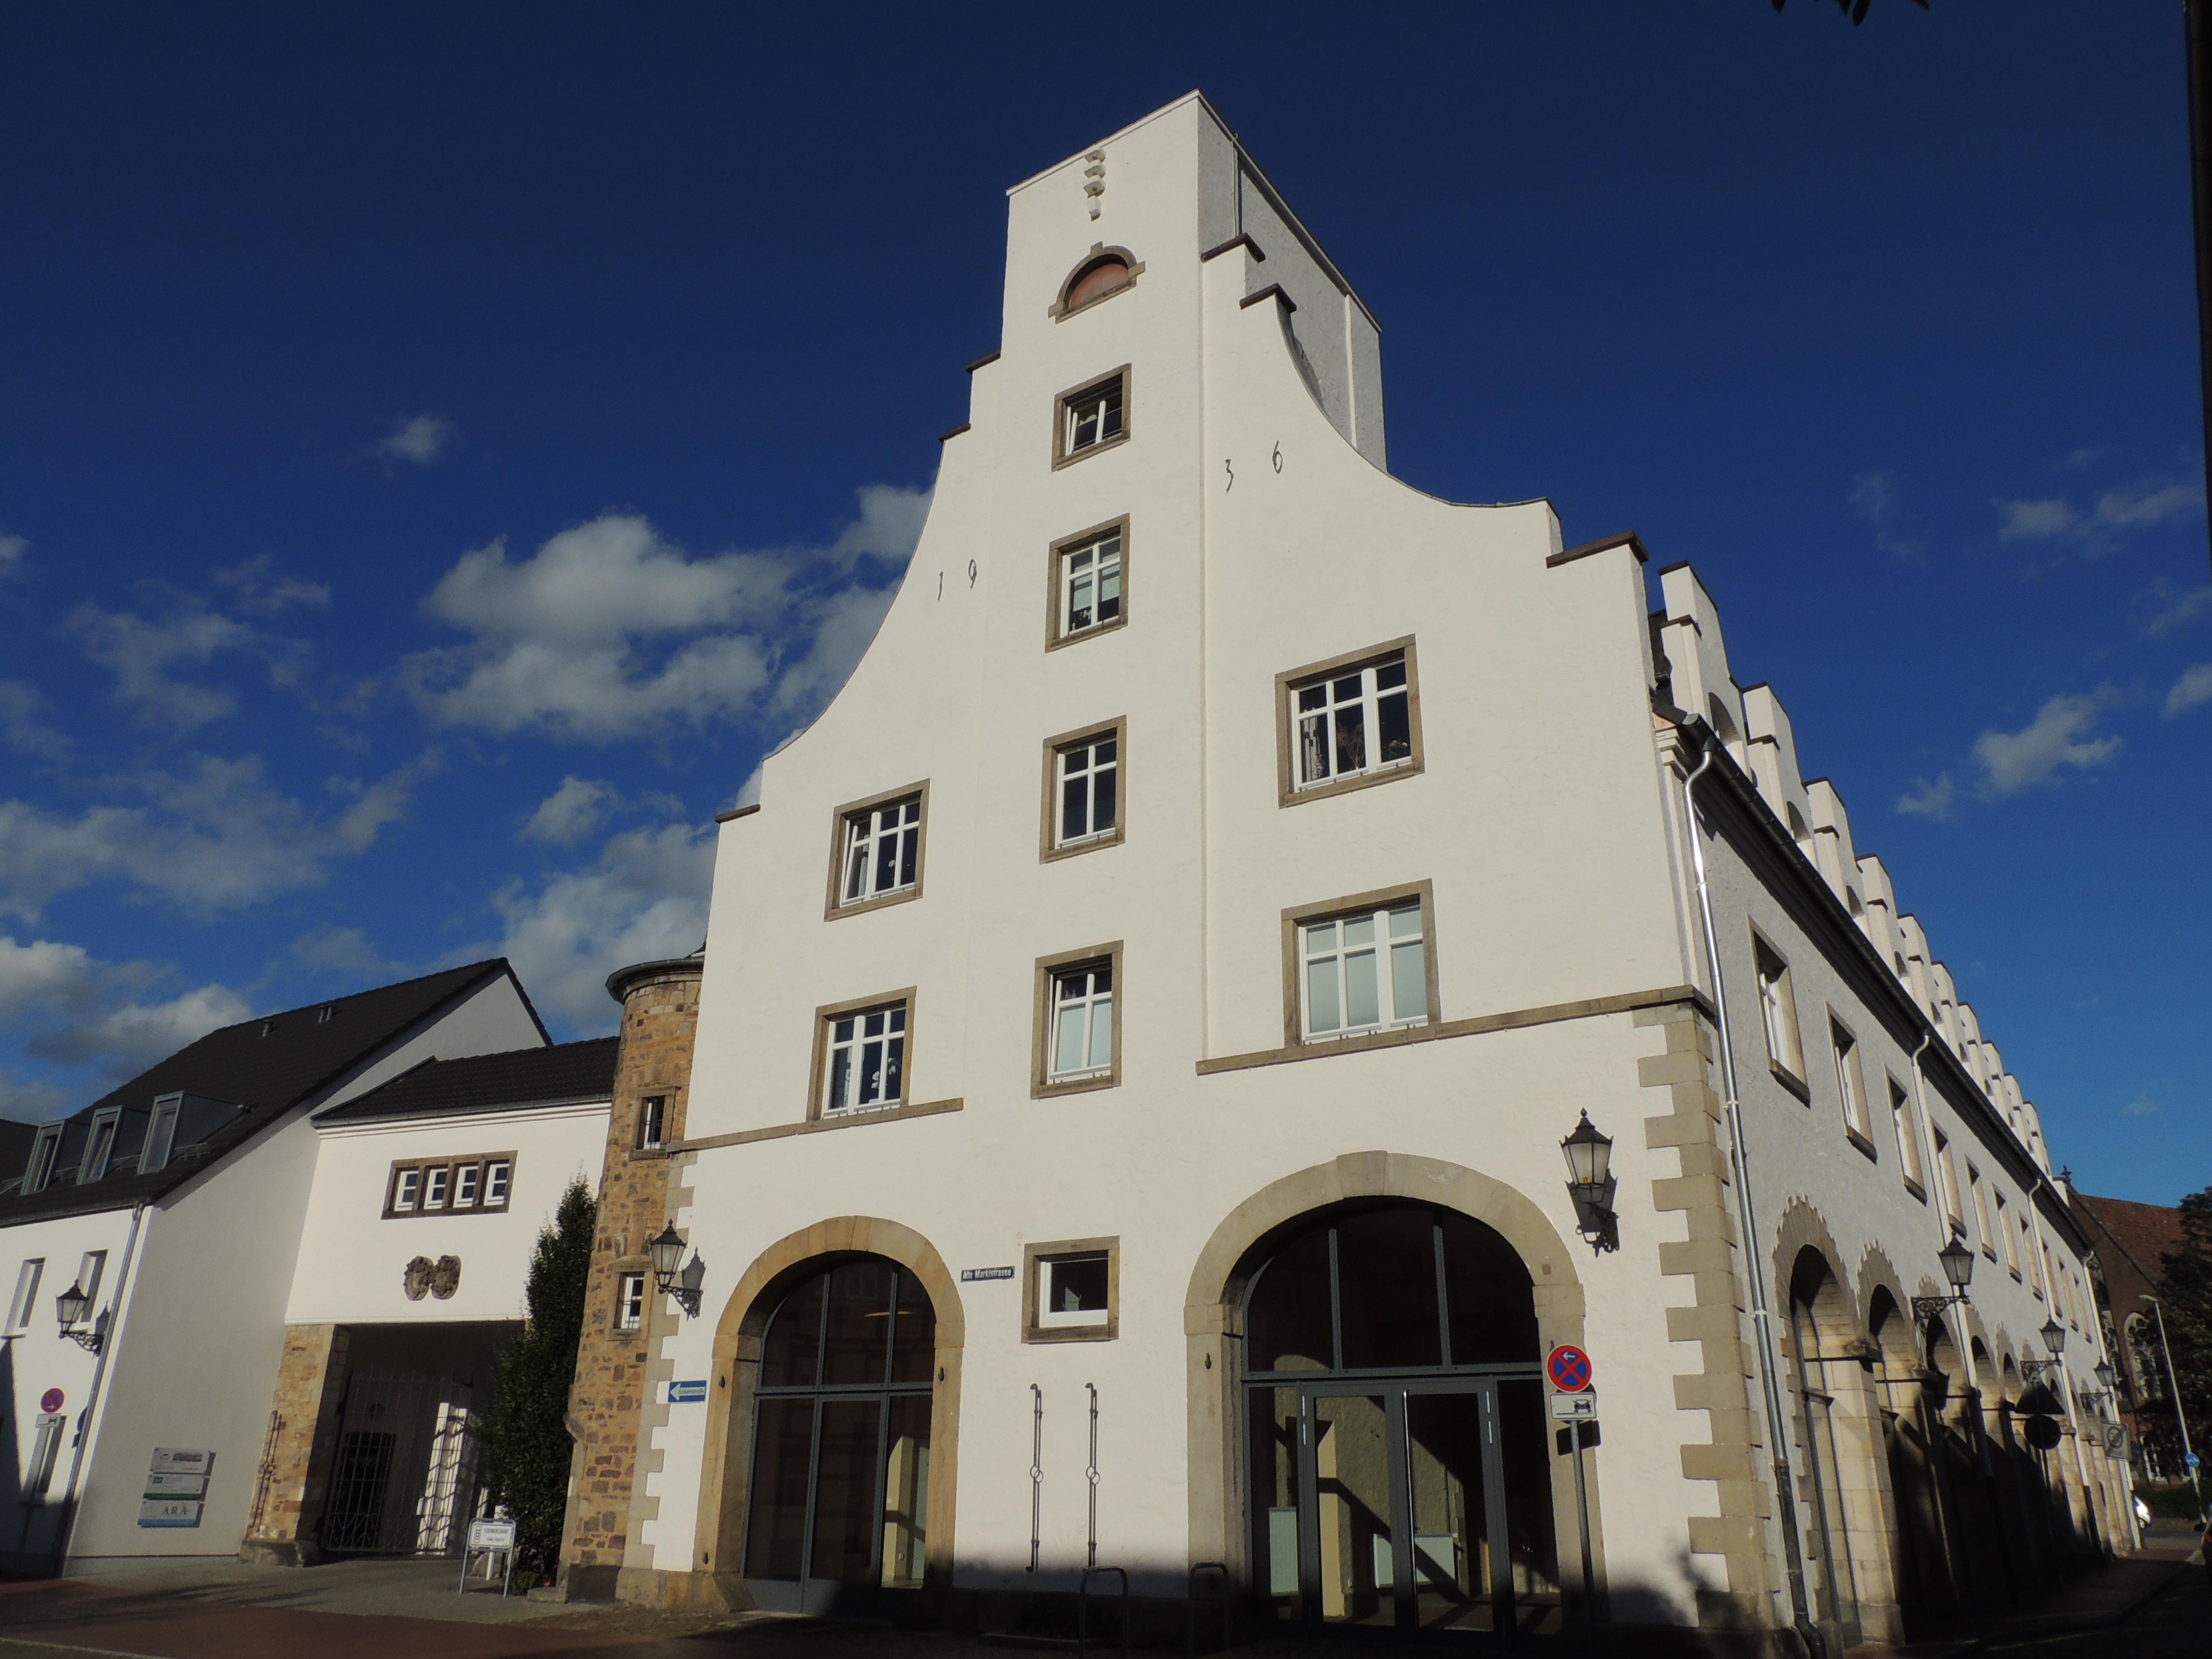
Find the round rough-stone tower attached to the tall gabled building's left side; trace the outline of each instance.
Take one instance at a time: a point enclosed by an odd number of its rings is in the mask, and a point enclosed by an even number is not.
[[[584,1290],[584,1336],[568,1394],[568,1433],[575,1462],[568,1478],[568,1524],[562,1537],[560,1588],[571,1601],[611,1601],[624,1555],[646,1511],[633,1504],[641,1473],[657,1467],[657,1451],[639,1469],[639,1444],[653,1409],[653,1387],[664,1380],[653,1343],[659,1296],[646,1296],[646,1327],[615,1325],[624,1274],[653,1272],[646,1241],[675,1210],[668,1157],[639,1146],[646,1099],[661,1099],[661,1146],[684,1137],[690,1093],[692,1035],[699,1026],[699,975],[706,956],[639,962],[606,980],[622,1004],[622,1044],[615,1053],[615,1097],[606,1121],[606,1159],[599,1172],[599,1223]]]

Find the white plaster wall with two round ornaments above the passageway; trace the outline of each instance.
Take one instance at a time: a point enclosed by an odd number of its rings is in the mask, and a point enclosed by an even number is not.
[[[606,1102],[469,1113],[392,1124],[323,1124],[299,1241],[288,1325],[445,1325],[522,1318],[538,1234],[571,1181],[599,1186]],[[385,1219],[385,1186],[400,1159],[513,1152],[507,1210]],[[411,1256],[460,1256],[449,1301],[407,1301]]]

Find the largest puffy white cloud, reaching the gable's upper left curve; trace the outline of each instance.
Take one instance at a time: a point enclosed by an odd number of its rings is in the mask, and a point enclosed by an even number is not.
[[[453,726],[602,743],[763,701],[818,706],[883,619],[880,566],[905,564],[929,511],[927,491],[887,484],[858,500],[827,546],[695,560],[635,513],[577,524],[520,562],[504,542],[480,546],[422,602],[471,639],[416,653],[398,679]]]

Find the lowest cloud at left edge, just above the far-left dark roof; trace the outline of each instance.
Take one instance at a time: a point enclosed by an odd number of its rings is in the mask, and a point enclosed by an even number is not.
[[[24,1048],[60,1064],[93,1062],[111,1079],[128,1077],[155,1060],[237,1024],[250,1009],[221,984],[201,984],[166,1002],[133,1000],[168,978],[153,962],[100,962],[82,945],[0,933],[0,1029],[29,1031]],[[27,1084],[13,1084],[27,1088]],[[51,1084],[33,1084],[51,1104]],[[0,1102],[18,1110],[20,1102]]]

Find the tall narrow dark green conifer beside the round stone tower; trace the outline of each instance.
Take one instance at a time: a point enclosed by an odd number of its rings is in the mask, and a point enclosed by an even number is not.
[[[515,1577],[551,1582],[568,1513],[568,1385],[584,1334],[584,1281],[599,1206],[571,1181],[538,1234],[522,1332],[500,1349],[498,1394],[482,1416],[484,1482],[515,1517]]]

